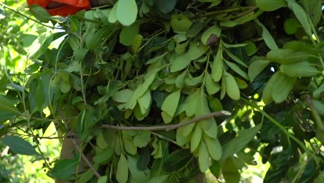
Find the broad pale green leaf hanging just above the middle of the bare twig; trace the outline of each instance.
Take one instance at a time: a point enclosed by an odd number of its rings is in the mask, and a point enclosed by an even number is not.
[[[168,95],[162,104],[161,110],[173,117],[179,104],[180,94],[181,89],[178,89],[177,92]]]

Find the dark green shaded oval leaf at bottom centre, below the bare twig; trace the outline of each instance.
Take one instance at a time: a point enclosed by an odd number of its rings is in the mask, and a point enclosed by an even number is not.
[[[179,171],[179,169],[183,168],[183,166],[186,166],[186,164],[190,162],[191,158],[192,154],[190,153],[190,150],[176,150],[165,158],[163,169],[166,172]]]

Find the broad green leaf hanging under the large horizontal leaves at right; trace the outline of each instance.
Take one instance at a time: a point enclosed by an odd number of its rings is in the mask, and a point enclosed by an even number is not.
[[[280,71],[276,73],[278,73],[278,76],[276,77],[276,81],[273,83],[271,95],[273,101],[276,103],[282,103],[288,97],[291,89],[293,89],[296,78],[287,76]]]

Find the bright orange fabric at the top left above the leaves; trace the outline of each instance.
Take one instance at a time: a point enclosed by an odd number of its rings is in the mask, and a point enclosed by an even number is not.
[[[50,3],[51,0],[27,0],[27,4],[29,6],[31,5],[38,5],[42,6],[46,9],[48,6],[48,3]],[[60,15],[63,17],[66,17],[68,15],[73,15],[76,12],[80,10],[88,10],[91,8],[89,0],[53,0],[57,3],[64,3],[65,6],[62,6],[60,8],[54,8],[51,10],[47,10],[51,15]]]

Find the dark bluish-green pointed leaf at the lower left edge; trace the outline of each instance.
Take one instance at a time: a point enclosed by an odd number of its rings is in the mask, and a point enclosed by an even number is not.
[[[39,155],[35,148],[28,141],[21,139],[21,137],[6,135],[2,140],[14,153],[19,155]]]

